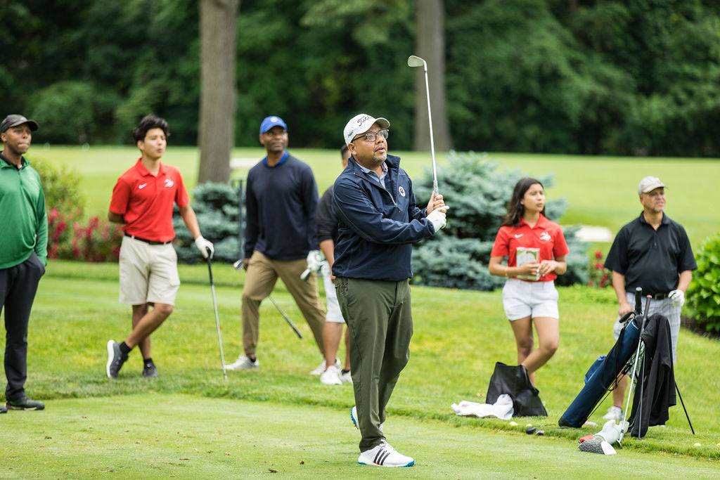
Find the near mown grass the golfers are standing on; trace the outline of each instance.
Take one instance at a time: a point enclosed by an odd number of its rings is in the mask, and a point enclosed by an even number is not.
[[[616,304],[608,289],[559,289],[560,348],[536,376],[549,416],[516,419],[513,427],[503,420],[458,417],[450,409],[462,400],[484,402],[495,361],[514,362],[500,291],[413,286],[410,363],[388,406],[386,433],[418,466],[397,473],[355,464],[358,438],[348,419],[353,391],[321,385],[308,374],[320,355],[282,284],[273,296],[305,339],[295,337],[272,304],[263,302],[260,370],[228,371],[226,382],[207,266],[181,266],[180,275],[174,313],[152,337],[160,378],[141,378],[134,351],[111,380],[105,344],[125,339],[130,329],[130,307],[117,303],[117,264],[48,265],[30,323],[26,384],[27,394],[48,408],[0,415],[0,477],[85,478],[112,471],[132,478],[256,478],[274,469],[312,479],[610,478],[619,468],[643,478],[668,471],[709,478],[719,468],[719,343],[686,330],[680,331],[675,375],[697,435],[690,434],[680,405],[670,409],[667,427],[651,427],[643,440],[626,438],[613,457],[577,450],[577,438],[599,426],[557,427],[583,374],[613,343]],[[241,352],[245,277],[225,265],[216,265],[213,276],[230,363]],[[590,420],[601,425],[608,406],[606,399]],[[525,435],[527,422],[543,425],[546,435]]]

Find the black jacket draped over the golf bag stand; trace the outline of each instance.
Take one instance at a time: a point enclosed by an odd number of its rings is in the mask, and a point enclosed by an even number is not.
[[[676,404],[672,340],[667,317],[657,313],[649,317],[640,340],[645,345],[645,353],[629,422],[630,435],[642,438],[648,426],[665,425],[667,409]]]

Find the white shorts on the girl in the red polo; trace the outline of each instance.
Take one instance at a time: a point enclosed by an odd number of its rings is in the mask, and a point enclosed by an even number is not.
[[[525,317],[560,318],[554,281],[508,279],[503,286],[503,308],[508,320]]]

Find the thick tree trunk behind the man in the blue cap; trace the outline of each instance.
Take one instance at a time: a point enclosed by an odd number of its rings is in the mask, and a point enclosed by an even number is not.
[[[230,180],[235,143],[235,55],[240,0],[200,0],[200,114],[197,183]]]

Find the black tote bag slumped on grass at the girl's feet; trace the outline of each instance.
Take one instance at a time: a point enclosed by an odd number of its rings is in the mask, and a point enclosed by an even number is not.
[[[524,366],[496,362],[485,402],[494,404],[500,395],[508,394],[513,399],[513,417],[547,417],[539,393]]]

